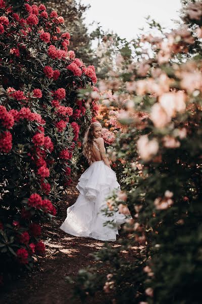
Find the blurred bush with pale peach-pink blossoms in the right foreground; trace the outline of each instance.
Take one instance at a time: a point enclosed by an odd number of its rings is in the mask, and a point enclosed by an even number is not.
[[[95,254],[101,276],[95,267],[80,272],[82,298],[103,290],[115,303],[201,301],[202,3],[184,6],[182,18],[169,33],[157,24],[160,35],[131,42],[134,60],[121,60],[111,85],[102,83],[117,102],[128,99],[113,155],[124,163],[122,192],[105,212],[127,216],[127,204],[133,219],[121,247]]]

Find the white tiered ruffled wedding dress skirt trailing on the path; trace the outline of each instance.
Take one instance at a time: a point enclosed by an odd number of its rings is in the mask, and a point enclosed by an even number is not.
[[[76,237],[116,241],[118,226],[126,221],[126,217],[118,211],[108,217],[101,211],[107,207],[106,197],[120,190],[115,172],[104,161],[93,162],[79,178],[76,188],[79,197],[67,209],[67,217],[60,229]],[[115,226],[104,226],[108,220],[114,220]]]

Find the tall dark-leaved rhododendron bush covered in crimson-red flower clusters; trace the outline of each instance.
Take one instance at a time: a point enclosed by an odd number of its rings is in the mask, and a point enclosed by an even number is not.
[[[44,253],[40,223],[56,216],[93,116],[77,90],[96,83],[95,69],[68,50],[63,22],[43,4],[0,0],[1,274]]]

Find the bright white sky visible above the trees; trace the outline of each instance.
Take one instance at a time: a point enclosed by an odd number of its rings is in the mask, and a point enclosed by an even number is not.
[[[105,30],[113,30],[129,40],[140,32],[139,28],[146,26],[144,17],[148,15],[162,26],[172,28],[175,26],[172,19],[179,19],[181,8],[180,0],[81,0],[81,2],[91,5],[86,14],[86,24],[93,20],[100,22]]]

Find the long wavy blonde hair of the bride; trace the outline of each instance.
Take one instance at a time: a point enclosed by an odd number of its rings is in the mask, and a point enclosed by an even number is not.
[[[84,136],[83,155],[87,158],[88,163],[90,162],[90,159],[91,159],[91,150],[92,150],[92,146],[93,146],[93,131],[96,127],[102,127],[102,126],[98,122],[92,123],[89,126],[89,128]]]

